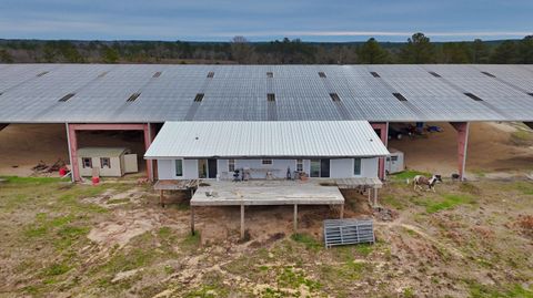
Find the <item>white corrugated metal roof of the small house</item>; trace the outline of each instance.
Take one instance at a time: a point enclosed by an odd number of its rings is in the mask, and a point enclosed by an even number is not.
[[[145,158],[350,157],[389,152],[366,121],[165,122]]]

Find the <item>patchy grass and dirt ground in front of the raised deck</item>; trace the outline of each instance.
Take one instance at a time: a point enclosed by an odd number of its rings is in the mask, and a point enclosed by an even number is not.
[[[328,207],[158,204],[149,185],[54,178],[0,183],[0,297],[532,297],[533,183],[439,184],[404,176],[381,195],[392,220],[346,193],[346,217],[373,218],[376,244],[326,249]]]

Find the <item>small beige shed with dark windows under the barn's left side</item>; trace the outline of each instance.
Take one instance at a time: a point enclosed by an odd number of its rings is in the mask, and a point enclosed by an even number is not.
[[[137,154],[125,147],[83,147],[78,150],[78,164],[81,176],[121,177],[139,172]]]

